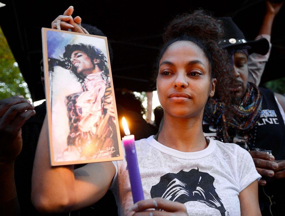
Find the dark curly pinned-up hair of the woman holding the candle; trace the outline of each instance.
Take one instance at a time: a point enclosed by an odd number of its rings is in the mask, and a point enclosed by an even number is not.
[[[195,43],[203,50],[211,65],[211,78],[217,79],[214,98],[218,98],[225,104],[223,112],[226,112],[226,116],[230,118],[230,110],[232,109],[230,104],[234,101],[230,89],[236,84],[234,76],[230,72],[229,55],[218,44],[223,39],[223,36],[222,22],[208,15],[203,10],[196,10],[190,14],[185,13],[177,16],[164,30],[164,45],[157,59],[156,77],[159,69],[159,61],[171,44],[177,41]]]

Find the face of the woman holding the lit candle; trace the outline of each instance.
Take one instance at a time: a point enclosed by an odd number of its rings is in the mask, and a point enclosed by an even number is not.
[[[157,93],[165,114],[203,116],[208,97],[214,95],[215,83],[207,57],[193,42],[174,42],[159,62]]]

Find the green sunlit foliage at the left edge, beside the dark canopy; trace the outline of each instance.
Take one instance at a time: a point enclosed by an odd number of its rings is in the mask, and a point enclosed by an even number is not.
[[[31,100],[28,85],[0,27],[0,100],[15,95]]]

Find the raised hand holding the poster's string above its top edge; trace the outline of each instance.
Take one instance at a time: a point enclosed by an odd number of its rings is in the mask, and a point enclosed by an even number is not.
[[[84,33],[80,27],[81,18],[79,16],[72,18],[71,15],[73,11],[73,6],[70,6],[66,11],[64,11],[63,15],[59,15],[55,20],[53,20],[51,28],[57,29],[57,21],[60,20],[61,30],[68,31],[71,29],[72,32]]]

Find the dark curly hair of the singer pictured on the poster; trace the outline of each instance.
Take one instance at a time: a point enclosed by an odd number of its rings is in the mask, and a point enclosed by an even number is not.
[[[71,65],[70,71],[72,74],[74,74],[78,78],[78,81],[83,83],[85,77],[83,74],[77,73],[76,67],[74,67],[71,63],[71,59],[70,59],[71,54],[72,52],[76,50],[84,52],[91,59],[92,63],[93,63],[92,61],[93,59],[100,59],[100,62],[97,64],[98,67],[100,68],[101,71],[104,71],[105,76],[109,75],[107,58],[100,49],[90,44],[82,44],[82,43],[68,44],[67,46],[65,46],[65,52],[63,53],[63,59],[65,59],[65,61],[67,61],[69,65]]]

